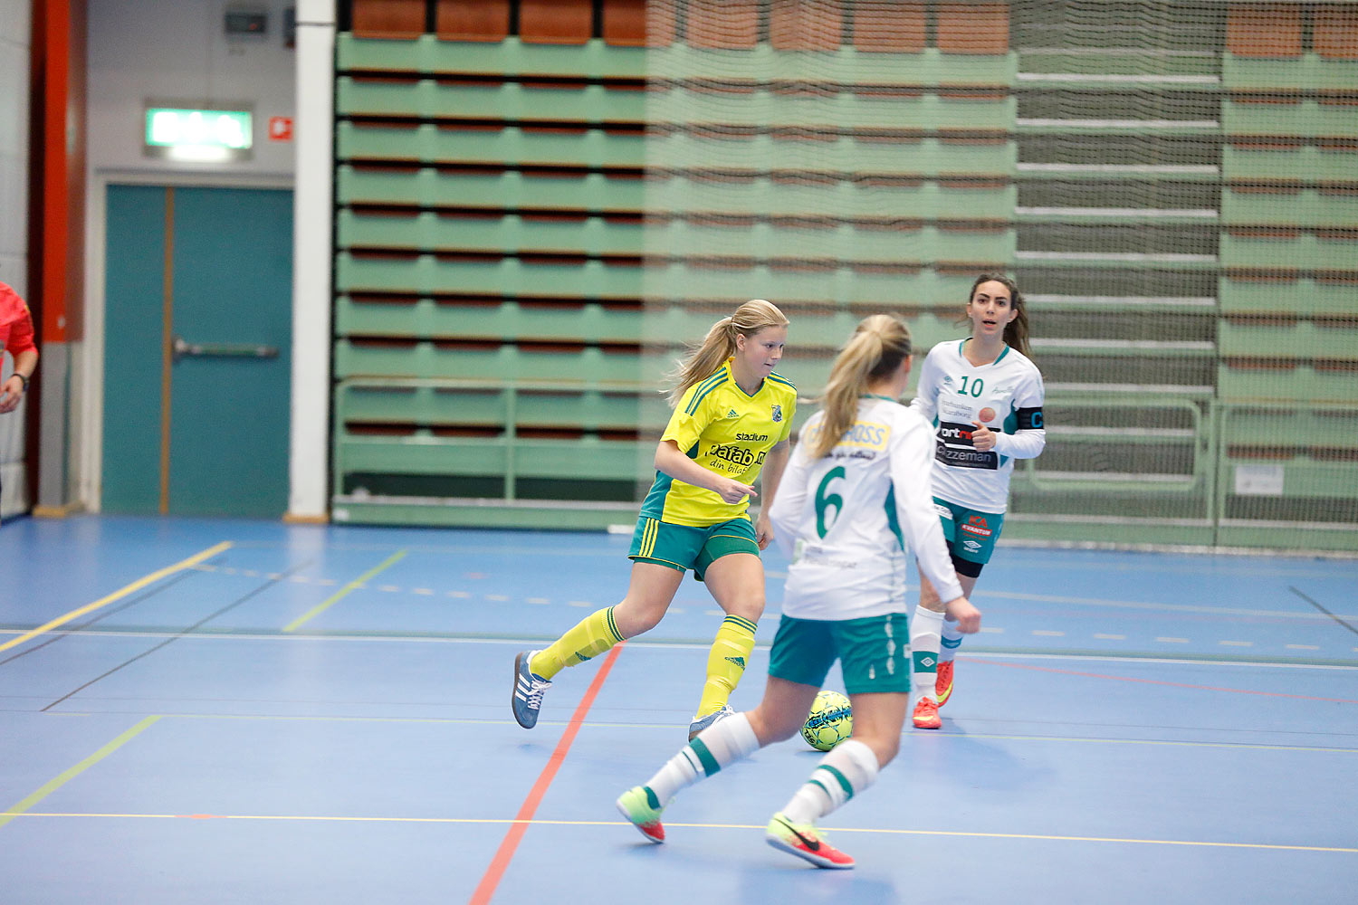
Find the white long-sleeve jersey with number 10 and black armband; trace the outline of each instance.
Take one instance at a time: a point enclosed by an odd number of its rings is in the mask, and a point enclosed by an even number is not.
[[[972,365],[961,354],[966,339],[949,339],[929,350],[919,369],[913,411],[937,423],[934,495],[986,513],[1009,505],[1014,459],[1036,459],[1047,446],[1042,403],[1042,372],[1017,349],[987,365]],[[995,431],[995,448],[978,452],[971,431],[979,421]]]

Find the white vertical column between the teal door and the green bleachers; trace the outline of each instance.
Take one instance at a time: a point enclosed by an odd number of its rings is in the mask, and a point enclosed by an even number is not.
[[[334,49],[334,0],[299,0],[289,521],[323,521],[330,499]]]

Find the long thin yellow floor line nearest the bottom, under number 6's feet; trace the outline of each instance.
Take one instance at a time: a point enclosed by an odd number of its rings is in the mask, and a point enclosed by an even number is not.
[[[15,814],[19,817],[19,814]],[[603,820],[496,820],[489,817],[319,817],[303,814],[80,814],[80,813],[37,813],[22,817],[52,818],[114,818],[114,820],[259,820],[259,821],[318,821],[331,824],[530,824],[532,826],[627,826],[623,821]],[[675,824],[665,821],[667,828],[676,829],[763,829],[754,824]],[[1332,845],[1275,845],[1268,843],[1210,843],[1183,839],[1120,839],[1115,836],[1047,836],[1043,833],[968,833],[937,829],[881,829],[868,826],[832,826],[832,833],[885,833],[891,836],[947,836],[964,839],[1025,839],[1046,843],[1120,843],[1124,845],[1194,845],[1202,848],[1253,848],[1286,852],[1336,852],[1358,855],[1358,848]]]

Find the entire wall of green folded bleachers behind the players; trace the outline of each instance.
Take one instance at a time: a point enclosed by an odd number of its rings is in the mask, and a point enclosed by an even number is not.
[[[922,355],[1002,271],[1050,444],[1006,537],[1358,544],[1358,4],[352,5],[337,518],[627,524],[741,301],[800,425],[860,317]]]

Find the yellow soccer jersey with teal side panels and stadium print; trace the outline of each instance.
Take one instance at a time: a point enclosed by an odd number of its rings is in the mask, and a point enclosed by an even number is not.
[[[731,374],[731,360],[706,380],[684,391],[660,440],[672,440],[708,471],[744,484],[755,483],[765,456],[792,433],[797,388],[786,377],[769,374],[754,395]],[[703,528],[740,518],[750,498],[727,503],[721,497],[656,472],[641,514],[671,525]]]

